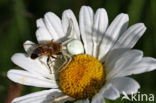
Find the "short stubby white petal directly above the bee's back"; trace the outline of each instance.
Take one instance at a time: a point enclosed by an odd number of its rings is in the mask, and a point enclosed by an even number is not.
[[[36,31],[36,38],[37,38],[37,41],[40,44],[44,43],[44,42],[47,42],[47,41],[53,40],[51,35],[46,35],[46,34],[48,34],[48,32],[47,32],[47,30],[45,28],[39,28]]]

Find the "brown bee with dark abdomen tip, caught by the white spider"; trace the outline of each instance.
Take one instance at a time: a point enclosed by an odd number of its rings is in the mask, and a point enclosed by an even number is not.
[[[50,58],[57,59],[57,57],[55,57],[55,56],[62,56],[65,59],[65,62],[59,68],[62,68],[62,67],[65,68],[66,65],[68,65],[70,63],[72,57],[70,56],[70,54],[68,54],[63,49],[63,46],[66,45],[70,41],[71,41],[71,39],[68,41],[65,41],[63,43],[48,41],[48,42],[45,42],[43,44],[39,44],[36,48],[34,48],[32,50],[32,52],[30,54],[30,58],[31,59],[37,59],[37,58],[40,58],[42,56],[47,56],[47,66],[51,71],[50,64],[52,62],[50,61]]]

